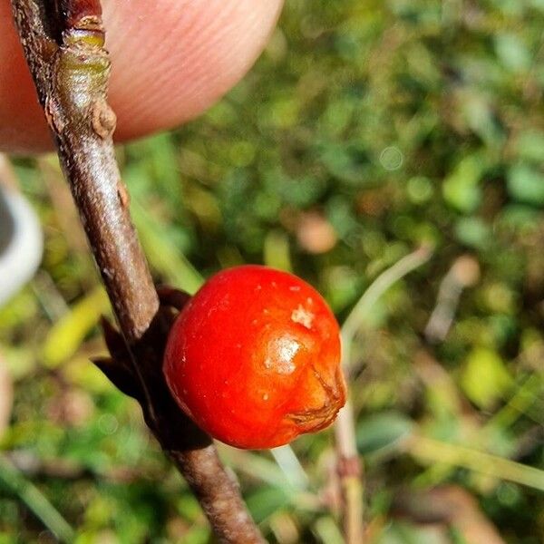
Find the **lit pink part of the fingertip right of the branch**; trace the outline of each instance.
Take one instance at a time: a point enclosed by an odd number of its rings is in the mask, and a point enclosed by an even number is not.
[[[180,4],[141,4],[141,16],[131,19],[124,37],[111,39],[111,101],[121,140],[189,121],[216,102],[257,59],[281,2]],[[121,35],[126,11],[126,3],[106,6],[115,36]]]

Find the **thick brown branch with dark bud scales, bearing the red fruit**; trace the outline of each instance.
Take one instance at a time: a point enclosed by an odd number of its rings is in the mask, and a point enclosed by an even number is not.
[[[112,359],[97,364],[141,403],[146,423],[189,482],[219,540],[263,542],[209,436],[180,411],[164,382],[161,357],[171,312],[160,308],[114,157],[100,2],[12,0],[12,5],[64,174],[121,327],[122,336],[105,325]]]

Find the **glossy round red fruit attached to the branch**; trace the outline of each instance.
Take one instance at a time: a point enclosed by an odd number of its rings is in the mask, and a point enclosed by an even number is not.
[[[209,279],[172,327],[164,373],[181,408],[238,448],[324,429],[345,403],[335,316],[316,289],[268,267]]]

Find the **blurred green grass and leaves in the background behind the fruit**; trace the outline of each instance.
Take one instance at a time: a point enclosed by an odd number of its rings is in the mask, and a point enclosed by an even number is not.
[[[462,504],[477,500],[505,541],[544,541],[543,28],[542,0],[288,2],[223,101],[119,150],[160,282],[194,291],[221,267],[267,263],[318,287],[342,322],[380,273],[433,248],[351,346],[375,542],[468,542],[455,520],[441,532],[396,515],[399,497],[424,504],[442,484],[470,493]],[[15,167],[46,249],[0,310],[16,393],[0,442],[0,543],[55,530],[80,544],[208,542],[139,410],[88,362],[103,354],[108,303],[54,161]],[[480,277],[430,345],[441,282],[467,255]],[[300,464],[221,453],[271,542],[341,542],[323,500],[332,432],[293,448]]]

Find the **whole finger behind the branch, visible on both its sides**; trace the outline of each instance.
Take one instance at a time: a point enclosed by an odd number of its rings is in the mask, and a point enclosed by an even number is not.
[[[189,121],[247,73],[282,0],[103,0],[124,141]],[[0,0],[0,151],[51,149],[9,0]]]

